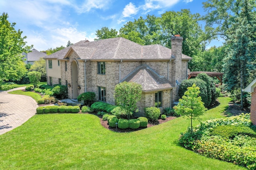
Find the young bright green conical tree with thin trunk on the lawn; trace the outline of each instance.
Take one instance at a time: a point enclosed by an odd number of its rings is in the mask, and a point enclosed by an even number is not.
[[[179,100],[177,106],[174,106],[176,113],[187,116],[191,120],[191,133],[192,133],[192,119],[198,119],[199,116],[203,115],[207,110],[204,107],[204,102],[202,102],[199,96],[199,87],[193,84],[192,87],[188,87],[188,90],[184,93],[184,96]]]

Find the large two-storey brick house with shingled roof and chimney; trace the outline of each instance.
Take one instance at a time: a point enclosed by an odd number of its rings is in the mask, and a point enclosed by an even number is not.
[[[178,86],[188,77],[188,61],[180,36],[171,37],[172,50],[161,45],[139,45],[122,37],[80,41],[46,59],[48,84],[68,86],[68,98],[95,92],[98,101],[115,104],[114,89],[123,81],[142,85],[137,103],[144,107],[171,107],[178,101]]]

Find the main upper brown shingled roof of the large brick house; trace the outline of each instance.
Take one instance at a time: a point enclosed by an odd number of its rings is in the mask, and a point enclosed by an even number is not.
[[[117,37],[89,42],[80,41],[48,55],[45,59],[66,59],[74,51],[82,60],[170,60],[172,50],[162,45],[139,45],[128,39]],[[182,54],[182,59],[192,59]]]

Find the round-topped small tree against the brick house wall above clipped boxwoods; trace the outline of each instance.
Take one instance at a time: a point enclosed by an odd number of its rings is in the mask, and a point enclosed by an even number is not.
[[[123,107],[128,113],[128,119],[137,111],[136,103],[140,100],[142,86],[135,82],[122,82],[115,87],[116,105]]]

